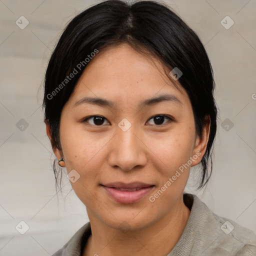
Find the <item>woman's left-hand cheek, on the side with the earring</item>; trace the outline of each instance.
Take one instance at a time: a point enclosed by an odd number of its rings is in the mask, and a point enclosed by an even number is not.
[[[99,170],[104,158],[104,145],[108,140],[80,128],[69,129],[67,126],[62,129],[60,140],[67,172],[74,169],[79,174],[79,178],[70,184],[78,198],[86,206],[93,207]]]

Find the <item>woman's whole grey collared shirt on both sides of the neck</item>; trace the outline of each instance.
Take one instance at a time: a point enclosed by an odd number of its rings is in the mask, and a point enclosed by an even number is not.
[[[184,193],[183,201],[190,214],[179,240],[166,256],[256,256],[253,231],[216,215],[194,194]],[[52,256],[81,256],[90,235],[87,222]]]

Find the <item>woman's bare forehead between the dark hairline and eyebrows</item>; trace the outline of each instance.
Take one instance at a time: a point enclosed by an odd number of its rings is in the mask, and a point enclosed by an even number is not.
[[[73,93],[82,96],[107,97],[130,103],[171,93],[182,101],[187,99],[180,84],[178,89],[169,80],[162,63],[133,49],[129,44],[104,48],[87,64]]]

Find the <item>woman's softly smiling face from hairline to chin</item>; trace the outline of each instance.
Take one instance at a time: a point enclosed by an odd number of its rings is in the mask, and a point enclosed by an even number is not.
[[[62,151],[54,148],[79,176],[70,183],[89,218],[138,229],[178,205],[207,138],[196,136],[189,97],[177,86],[157,59],[125,43],[89,62],[62,109]]]

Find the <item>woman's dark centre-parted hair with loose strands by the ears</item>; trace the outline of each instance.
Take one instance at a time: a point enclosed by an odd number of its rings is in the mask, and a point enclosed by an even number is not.
[[[86,67],[86,58],[106,46],[122,42],[129,43],[148,56],[157,57],[169,70],[174,67],[181,70],[182,76],[178,81],[190,98],[199,136],[210,117],[209,139],[201,160],[198,186],[202,188],[212,172],[211,148],[216,133],[213,71],[196,33],[164,3],[144,0],[129,4],[121,0],[106,0],[85,9],[68,23],[51,54],[45,73],[43,106],[53,145],[61,150],[61,110]],[[67,79],[71,73],[75,75]],[[54,100],[51,100],[53,96]],[[55,163],[53,170],[57,183]]]

